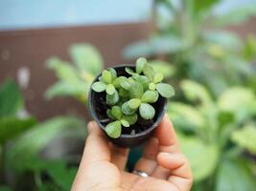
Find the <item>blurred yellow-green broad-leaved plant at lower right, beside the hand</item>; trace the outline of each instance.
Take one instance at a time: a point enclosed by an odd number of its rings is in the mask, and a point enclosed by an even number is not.
[[[190,160],[195,190],[252,191],[256,154],[256,96],[248,88],[232,87],[214,99],[197,82],[183,80],[189,102],[172,102],[181,148]]]

